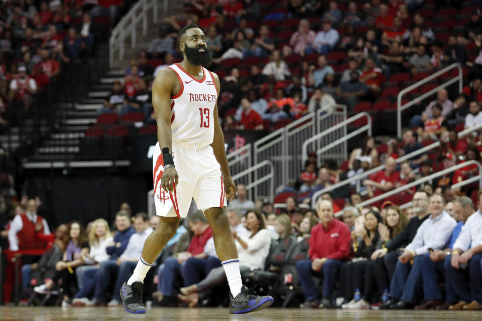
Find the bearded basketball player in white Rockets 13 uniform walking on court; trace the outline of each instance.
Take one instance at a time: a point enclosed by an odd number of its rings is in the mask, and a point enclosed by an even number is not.
[[[246,313],[270,306],[271,296],[257,296],[243,285],[239,259],[225,212],[235,186],[229,174],[224,138],[217,115],[219,78],[203,68],[212,53],[206,36],[191,24],[179,33],[184,60],[161,70],[152,86],[158,143],[154,152],[154,201],[161,217],[147,238],[133,274],[121,287],[124,309],[145,313],[143,280],[161,249],[174,236],[191,199],[212,228],[214,245],[230,288],[229,313]]]

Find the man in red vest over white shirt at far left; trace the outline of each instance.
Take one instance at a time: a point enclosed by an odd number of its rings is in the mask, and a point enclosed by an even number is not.
[[[37,202],[31,199],[27,202],[26,212],[16,215],[13,219],[9,229],[9,249],[11,251],[47,247],[47,242],[40,239],[39,235],[35,233],[37,229],[43,231],[45,235],[50,234],[47,221],[37,215],[37,209]]]

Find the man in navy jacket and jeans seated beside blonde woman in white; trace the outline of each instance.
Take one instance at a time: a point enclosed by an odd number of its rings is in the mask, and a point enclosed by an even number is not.
[[[121,208],[126,208],[127,203],[123,203]],[[113,241],[107,244],[105,251],[110,255],[108,260],[99,264],[98,269],[89,269],[84,271],[82,275],[82,289],[77,292],[72,300],[75,306],[100,304],[97,298],[104,299],[104,293],[107,289],[109,280],[102,280],[97,283],[97,274],[108,273],[111,267],[117,266],[117,259],[124,253],[133,234],[136,233],[134,227],[131,226],[131,215],[128,211],[120,210],[115,214],[115,228],[117,233],[114,235]],[[89,300],[88,297],[94,292],[94,299]]]

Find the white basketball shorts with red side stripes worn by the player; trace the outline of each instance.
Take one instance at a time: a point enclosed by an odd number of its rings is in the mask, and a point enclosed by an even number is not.
[[[179,176],[173,193],[161,188],[164,162],[159,142],[154,149],[153,183],[156,214],[165,217],[186,217],[191,200],[198,209],[226,206],[221,168],[210,145],[172,143],[174,165]]]

